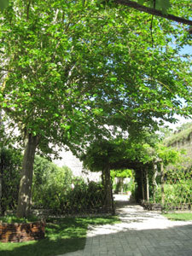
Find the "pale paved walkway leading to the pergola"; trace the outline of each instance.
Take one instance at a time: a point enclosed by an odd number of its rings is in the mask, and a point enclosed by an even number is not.
[[[90,226],[84,250],[62,255],[192,256],[192,221],[170,221],[119,199],[120,224]]]

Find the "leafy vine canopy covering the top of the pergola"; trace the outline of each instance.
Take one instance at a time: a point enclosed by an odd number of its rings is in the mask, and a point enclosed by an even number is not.
[[[149,140],[149,135],[152,141]],[[105,166],[110,166],[112,169],[116,165],[117,170],[111,172],[112,177],[120,177],[126,176],[123,171],[126,167],[134,169],[137,168],[137,164],[143,167],[147,164],[149,168],[153,167],[155,161],[160,160],[163,161],[164,166],[178,164],[183,154],[183,150],[166,147],[158,143],[158,137],[155,136],[154,139],[153,133],[148,133],[147,136],[144,134],[137,139],[116,137],[111,140],[94,141],[87,151],[80,155],[80,160],[83,160],[84,167],[90,171],[102,171]],[[124,162],[126,166],[122,167],[121,163]],[[118,171],[119,168],[122,169]]]

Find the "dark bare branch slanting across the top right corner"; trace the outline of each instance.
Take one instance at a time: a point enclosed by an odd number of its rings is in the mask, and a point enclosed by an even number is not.
[[[114,0],[114,3],[123,4],[131,8],[137,9],[139,11],[148,13],[150,15],[160,16],[160,17],[166,18],[167,20],[174,20],[176,22],[180,22],[180,23],[192,26],[192,20],[186,20],[184,18],[177,17],[175,15],[168,15],[168,14],[164,15],[160,10],[148,8],[147,6],[141,5],[139,3],[136,3],[130,0]]]

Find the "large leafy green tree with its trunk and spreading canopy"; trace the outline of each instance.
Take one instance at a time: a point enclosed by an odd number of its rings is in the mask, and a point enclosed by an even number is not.
[[[10,1],[3,11],[0,107],[25,148],[19,217],[29,210],[37,151],[81,150],[111,136],[106,124],[133,132],[155,128],[154,117],[189,114],[180,98],[191,101],[190,61],[178,56],[188,39],[156,20],[152,49],[146,18],[82,1]],[[167,46],[174,30],[176,48]]]

